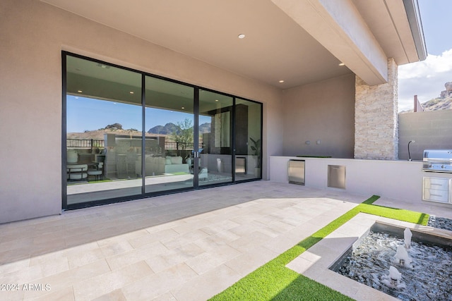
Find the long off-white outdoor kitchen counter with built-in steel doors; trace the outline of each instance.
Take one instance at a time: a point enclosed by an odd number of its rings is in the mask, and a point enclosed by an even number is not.
[[[452,178],[452,173],[422,171],[422,161],[270,156],[271,181],[288,183],[289,160],[305,161],[307,187],[328,188],[328,165],[345,166],[345,191],[411,202],[422,201],[422,177]]]

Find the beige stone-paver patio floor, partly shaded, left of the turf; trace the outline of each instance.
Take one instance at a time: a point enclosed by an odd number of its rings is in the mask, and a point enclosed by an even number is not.
[[[367,197],[258,181],[3,224],[0,300],[206,300]]]

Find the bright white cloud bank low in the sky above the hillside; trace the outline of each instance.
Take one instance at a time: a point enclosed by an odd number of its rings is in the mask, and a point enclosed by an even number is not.
[[[399,111],[413,108],[414,95],[421,103],[439,97],[446,82],[452,82],[452,49],[441,56],[429,54],[425,61],[399,66]]]

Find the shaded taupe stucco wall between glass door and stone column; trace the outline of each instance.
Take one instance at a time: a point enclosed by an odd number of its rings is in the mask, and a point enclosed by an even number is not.
[[[283,155],[353,158],[354,74],[286,90],[283,99]]]

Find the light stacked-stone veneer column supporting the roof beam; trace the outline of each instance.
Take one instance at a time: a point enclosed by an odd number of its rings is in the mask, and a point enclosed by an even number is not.
[[[355,78],[355,159],[398,159],[397,64],[388,59],[388,83]]]

